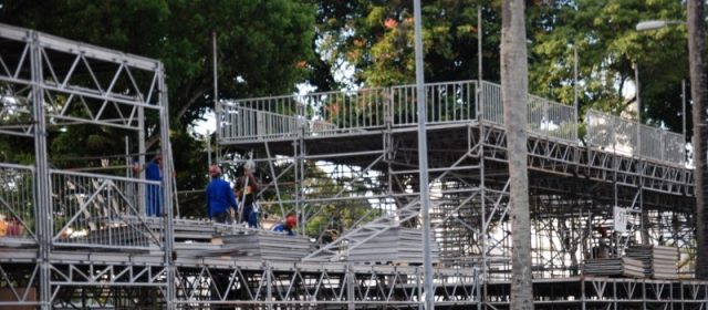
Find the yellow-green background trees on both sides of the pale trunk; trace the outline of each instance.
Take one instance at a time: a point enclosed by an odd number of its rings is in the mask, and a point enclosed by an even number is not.
[[[353,73],[358,86],[413,83],[413,23],[409,1],[312,1],[317,9],[317,52],[333,71]],[[525,1],[529,90],[573,104],[573,49],[579,51],[580,104],[614,114],[636,101],[633,63],[639,66],[643,120],[680,132],[680,81],[687,66],[686,32],[637,32],[641,20],[683,19],[673,0]],[[477,76],[477,7],[482,8],[483,78],[498,82],[500,1],[426,1],[423,7],[428,82]],[[346,70],[343,70],[346,69]],[[646,79],[642,79],[646,76]],[[650,78],[649,78],[650,76]],[[320,85],[320,84],[319,84]],[[335,84],[331,87],[337,87]],[[690,122],[690,120],[688,120]]]

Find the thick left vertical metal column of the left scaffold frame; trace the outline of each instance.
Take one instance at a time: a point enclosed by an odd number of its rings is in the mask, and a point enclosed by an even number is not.
[[[50,173],[46,159],[46,118],[44,117],[44,92],[42,73],[42,52],[39,34],[28,32],[30,39],[30,63],[32,70],[32,116],[34,118],[34,202],[35,221],[39,240],[40,301],[41,309],[52,308],[50,258],[52,251],[52,200],[50,193]]]

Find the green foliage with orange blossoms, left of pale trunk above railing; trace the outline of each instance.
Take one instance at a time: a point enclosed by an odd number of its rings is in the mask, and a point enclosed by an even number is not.
[[[313,1],[320,54],[335,70],[354,66],[354,83],[366,86],[415,81],[414,20],[409,1]],[[346,2],[346,3],[345,3]],[[423,40],[426,81],[469,80],[477,75],[477,2],[426,1]],[[499,20],[483,8],[485,75],[499,79]]]

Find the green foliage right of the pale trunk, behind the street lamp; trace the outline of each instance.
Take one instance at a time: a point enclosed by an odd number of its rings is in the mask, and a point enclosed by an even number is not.
[[[579,94],[583,107],[620,114],[635,99],[622,89],[634,84],[638,64],[643,120],[679,131],[680,80],[688,61],[684,27],[637,32],[643,20],[683,20],[680,2],[658,0],[556,1],[540,11],[553,20],[532,32],[530,90],[534,94],[573,103],[574,49],[579,56]],[[681,65],[683,64],[683,65]],[[648,118],[648,121],[647,121]]]

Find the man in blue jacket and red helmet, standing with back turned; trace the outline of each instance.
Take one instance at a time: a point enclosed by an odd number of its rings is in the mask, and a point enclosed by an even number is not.
[[[221,169],[217,165],[209,167],[211,182],[207,185],[207,215],[217,223],[231,223],[231,210],[238,209],[231,185],[221,178]]]

